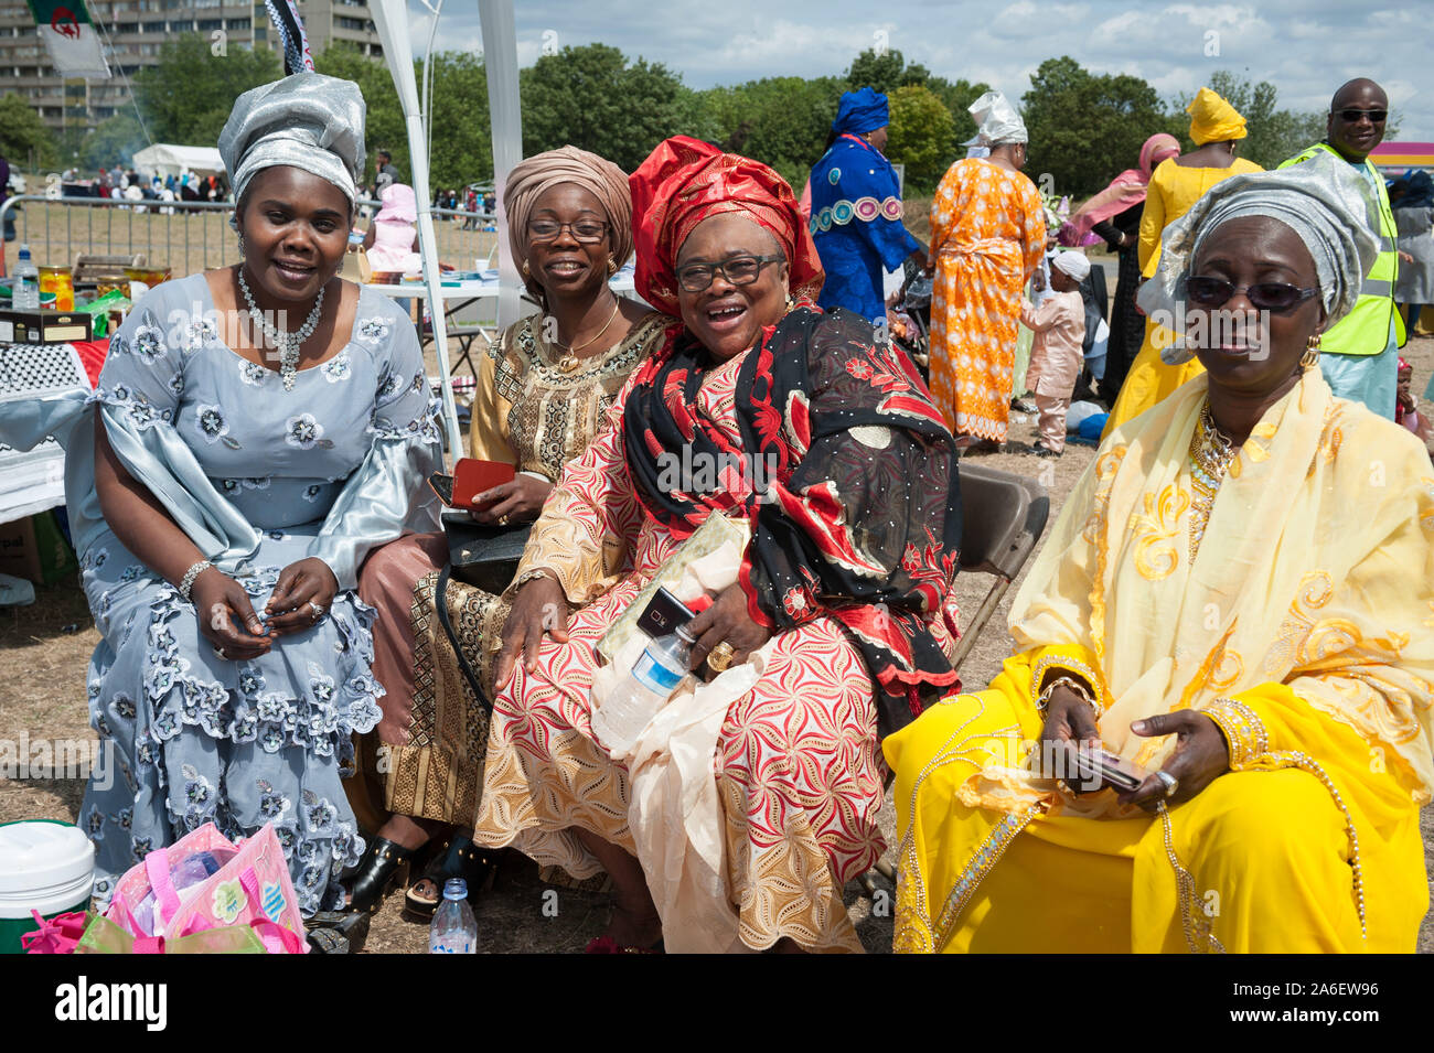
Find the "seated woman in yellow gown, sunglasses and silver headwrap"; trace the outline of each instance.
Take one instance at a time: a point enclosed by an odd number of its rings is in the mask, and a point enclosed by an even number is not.
[[[1141,305],[1186,299],[1209,372],[1101,446],[989,689],[886,739],[896,950],[1414,950],[1434,473],[1309,368],[1377,248],[1362,193],[1335,162],[1236,176],[1170,232]],[[1040,761],[1076,742],[1147,775]]]

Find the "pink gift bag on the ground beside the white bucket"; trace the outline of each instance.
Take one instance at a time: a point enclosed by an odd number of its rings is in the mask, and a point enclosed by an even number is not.
[[[206,822],[155,848],[119,880],[105,917],[136,938],[245,925],[271,954],[308,951],[272,824],[234,844]]]

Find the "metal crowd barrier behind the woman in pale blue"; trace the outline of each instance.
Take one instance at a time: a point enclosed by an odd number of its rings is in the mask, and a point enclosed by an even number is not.
[[[379,202],[358,205],[367,225]],[[238,261],[232,211],[232,202],[23,193],[0,205],[0,229],[16,221],[16,239],[4,246],[7,266],[26,244],[40,266],[72,266],[82,254],[142,254],[145,266],[168,268],[178,278]],[[433,215],[446,221],[435,223],[439,259],[459,271],[482,269],[498,239],[485,229],[493,225],[492,213],[433,209]]]

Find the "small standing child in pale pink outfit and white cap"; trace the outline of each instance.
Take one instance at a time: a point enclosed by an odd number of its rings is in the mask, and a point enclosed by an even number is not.
[[[1035,394],[1041,414],[1037,457],[1060,457],[1065,448],[1065,411],[1080,377],[1081,344],[1086,341],[1086,304],[1080,284],[1090,274],[1090,261],[1080,252],[1060,252],[1051,261],[1051,291],[1037,308],[1021,301],[1021,324],[1035,334],[1025,387]]]

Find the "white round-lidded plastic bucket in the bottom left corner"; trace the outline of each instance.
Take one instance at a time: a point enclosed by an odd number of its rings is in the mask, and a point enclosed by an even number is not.
[[[0,824],[0,954],[19,954],[20,936],[42,917],[85,910],[95,885],[95,845],[70,822]]]

